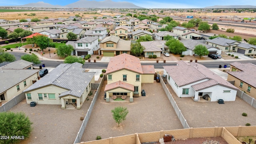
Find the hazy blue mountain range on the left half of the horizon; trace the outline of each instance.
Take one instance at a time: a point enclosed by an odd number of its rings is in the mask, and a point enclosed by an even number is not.
[[[77,2],[68,4],[66,6],[52,5],[45,2],[36,2],[30,4],[24,4],[15,7],[40,7],[40,8],[142,8],[136,6],[130,2],[113,2],[112,0],[104,1],[88,1],[88,0],[79,0]]]

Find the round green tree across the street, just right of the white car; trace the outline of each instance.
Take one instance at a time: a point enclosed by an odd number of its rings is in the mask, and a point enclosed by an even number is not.
[[[169,47],[170,52],[173,54],[182,54],[182,52],[186,51],[184,44],[174,38],[168,40],[165,45]]]

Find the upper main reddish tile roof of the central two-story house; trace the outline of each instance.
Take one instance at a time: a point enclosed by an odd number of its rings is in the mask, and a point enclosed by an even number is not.
[[[106,74],[110,74],[122,69],[143,74],[140,59],[125,53],[110,58]]]

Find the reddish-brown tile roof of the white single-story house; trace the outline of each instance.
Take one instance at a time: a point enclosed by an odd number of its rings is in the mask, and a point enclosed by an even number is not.
[[[236,88],[234,85],[230,84],[202,64],[198,64],[195,62],[188,63],[181,60],[177,62],[177,66],[163,67],[172,77],[174,82],[176,82],[176,84],[180,87],[204,80],[204,83],[200,82],[202,84],[198,83],[194,85],[194,88],[196,88],[195,90],[202,90],[204,88],[208,88],[217,84],[238,90],[238,88]],[[215,82],[212,80],[214,80]]]

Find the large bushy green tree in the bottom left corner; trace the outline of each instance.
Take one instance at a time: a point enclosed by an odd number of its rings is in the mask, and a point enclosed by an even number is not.
[[[28,138],[32,131],[32,122],[24,112],[0,112],[0,134],[8,136],[7,140],[0,140],[1,144],[14,144],[20,140],[11,136],[24,136]]]

